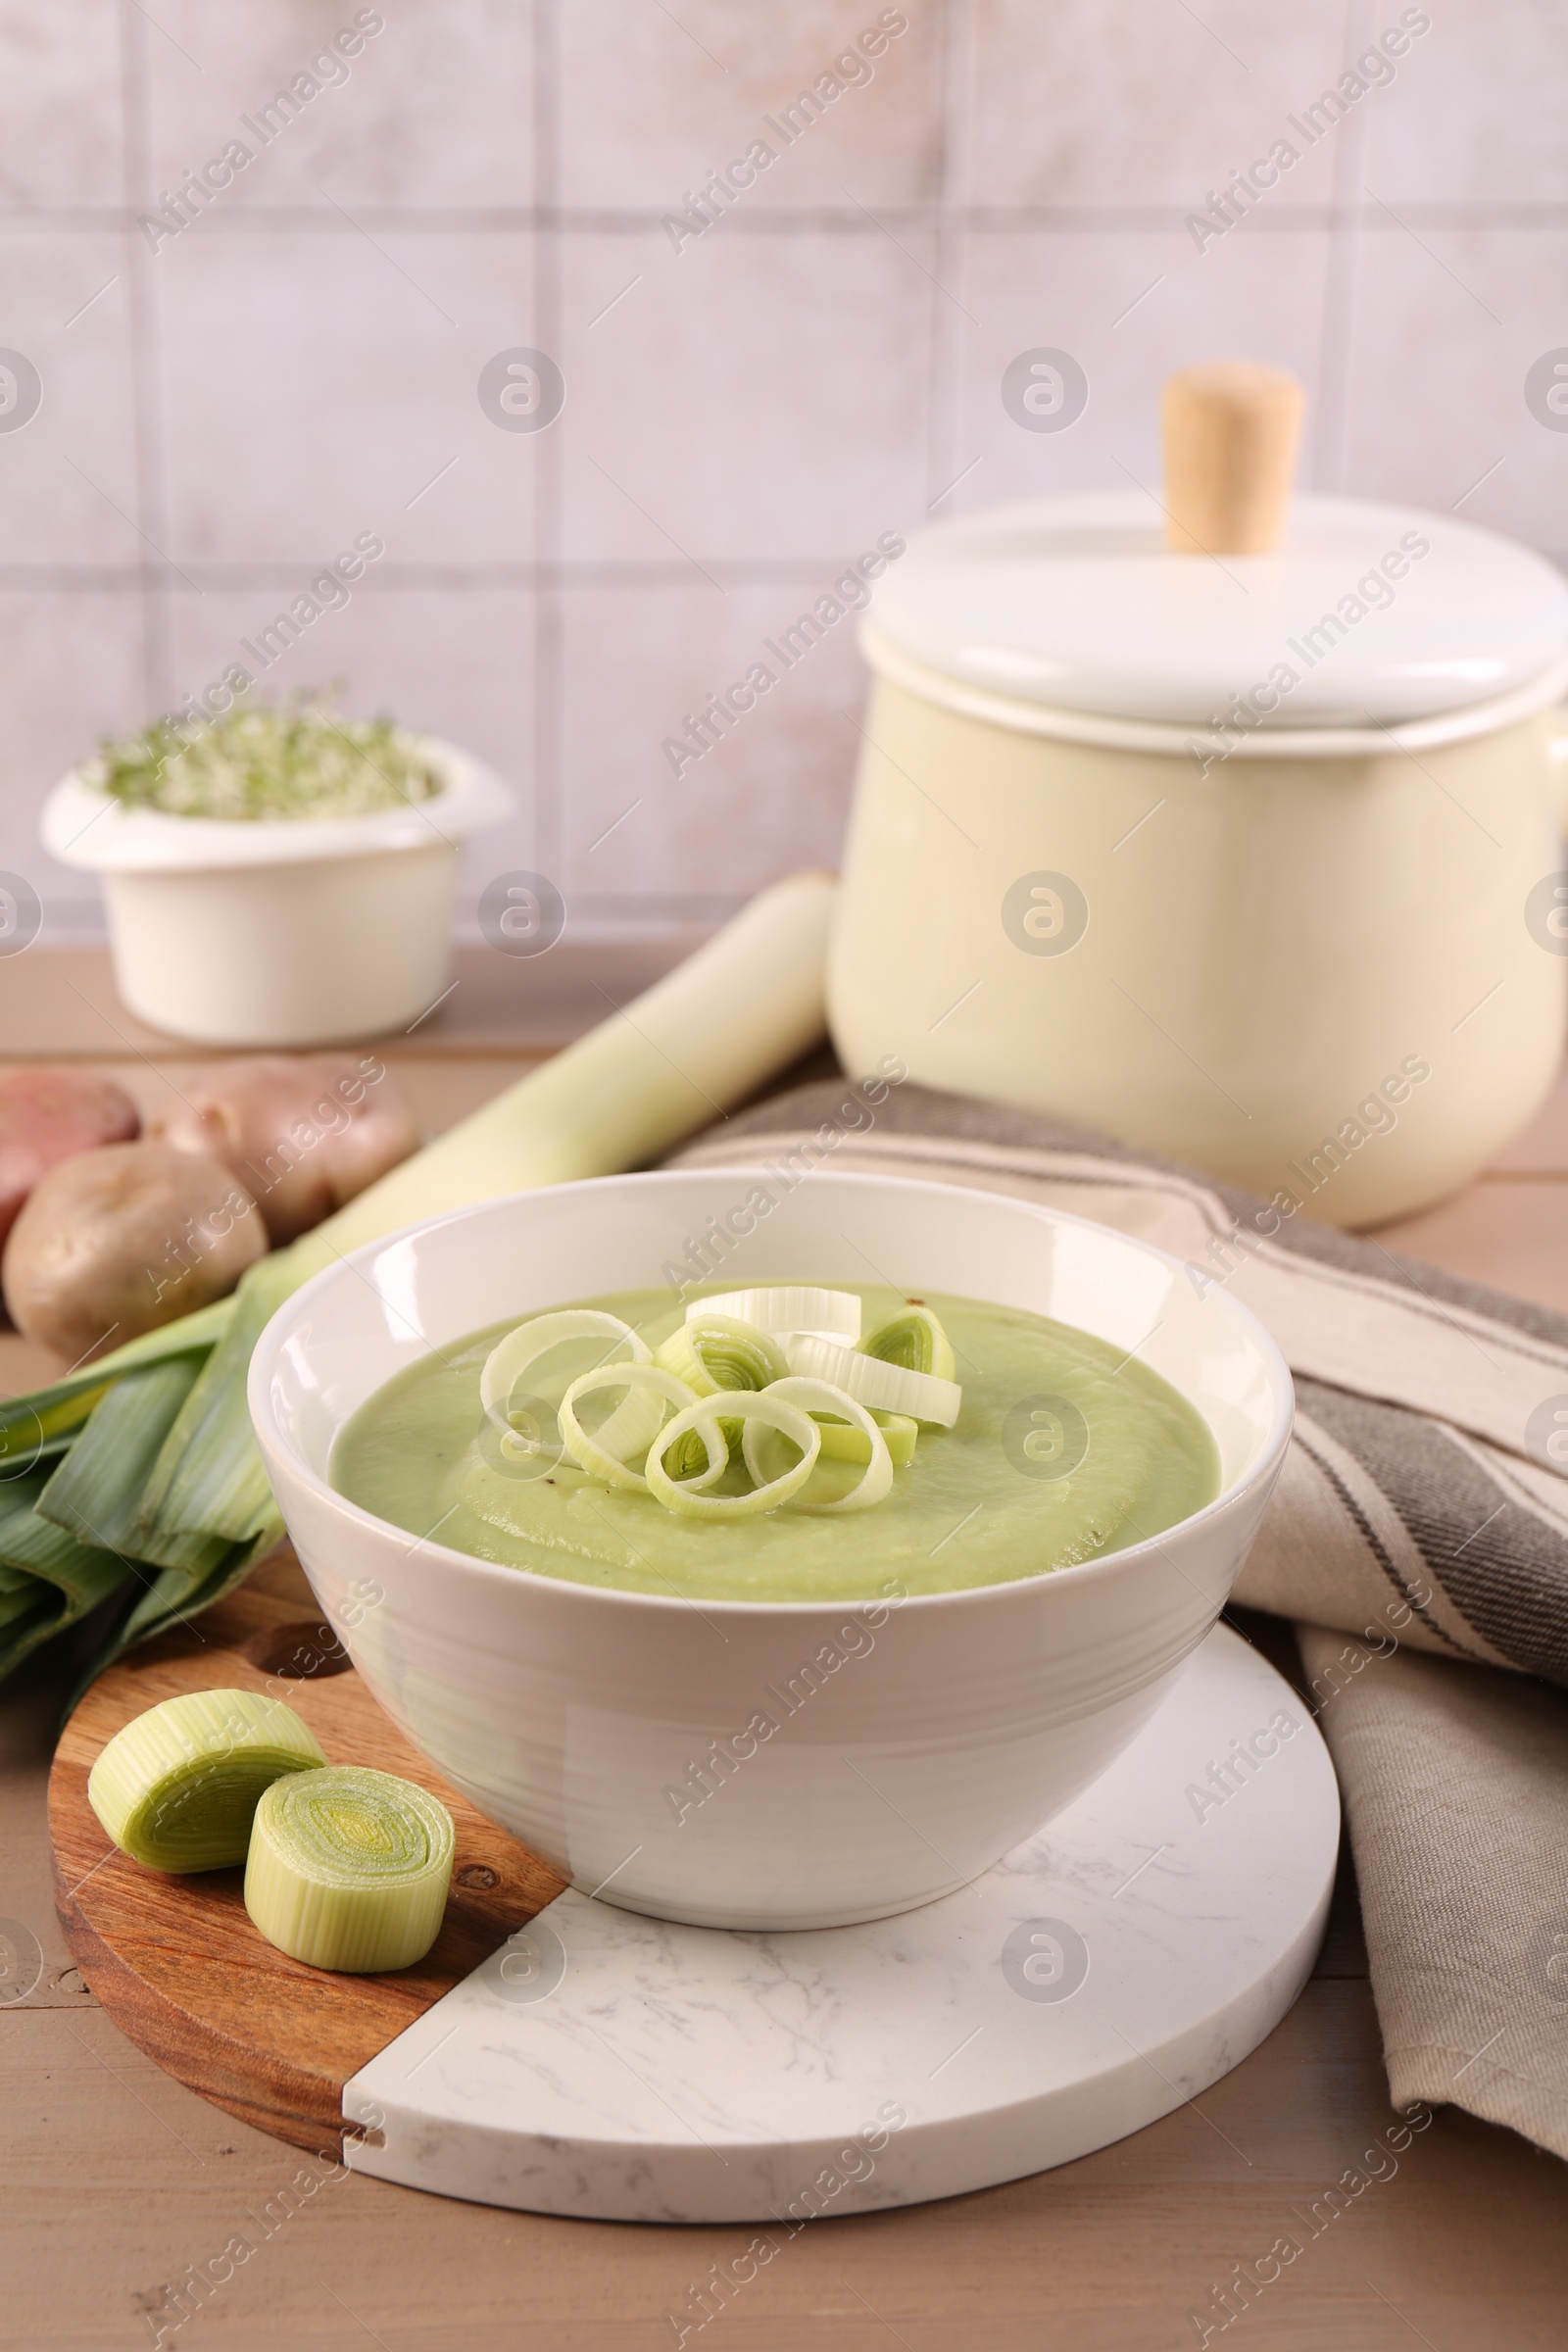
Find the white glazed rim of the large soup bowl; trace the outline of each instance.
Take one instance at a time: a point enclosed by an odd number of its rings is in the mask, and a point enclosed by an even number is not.
[[[475,1218],[475,1216],[482,1216],[487,1211],[494,1214],[501,1207],[501,1202],[527,1202],[527,1200],[536,1200],[541,1192],[552,1192],[552,1195],[583,1192],[583,1195],[595,1195],[597,1197],[609,1185],[623,1185],[623,1183],[658,1185],[658,1183],[682,1183],[682,1181],[689,1183],[691,1176],[705,1176],[705,1174],[719,1174],[719,1171],[708,1171],[708,1169],[649,1169],[649,1171],[639,1171],[639,1174],[632,1174],[632,1176],[588,1176],[588,1178],[581,1178],[578,1183],[541,1185],[534,1192],[508,1192],[508,1195],[498,1195],[494,1200],[473,1202],[470,1207],[463,1207],[463,1209],[451,1209],[444,1216],[421,1218],[414,1225],[404,1225],[397,1232],[381,1235],[374,1242],[362,1242],[360,1249],[346,1251],[334,1265],[324,1265],[317,1275],[313,1275],[308,1282],[303,1282],[299,1287],[299,1291],[294,1291],[292,1298],[287,1298],[277,1308],[277,1312],[263,1327],[261,1338],[256,1341],[256,1345],[252,1350],[247,1395],[249,1395],[252,1425],[256,1428],[256,1435],[261,1439],[263,1454],[268,1449],[277,1451],[284,1458],[292,1479],[296,1479],[301,1486],[308,1486],[322,1503],[327,1503],[329,1508],[336,1508],[339,1512],[343,1512],[343,1517],[350,1519],[353,1524],[367,1529],[369,1534],[374,1534],[378,1538],[402,1538],[402,1536],[407,1536],[407,1529],[395,1526],[390,1519],[381,1519],[374,1510],[364,1510],[362,1503],[353,1503],[346,1494],[341,1494],[336,1486],[331,1486],[317,1470],[310,1468],[310,1463],[303,1458],[303,1454],[299,1451],[299,1446],[292,1442],[292,1437],[277,1423],[277,1416],[273,1411],[273,1362],[282,1352],[284,1343],[292,1338],[294,1327],[308,1312],[308,1308],[320,1296],[324,1296],[324,1291],[334,1282],[341,1282],[348,1275],[360,1275],[369,1265],[371,1258],[376,1258],[383,1249],[393,1247],[395,1242],[407,1242],[407,1240],[414,1240],[414,1237],[425,1235],[425,1232],[437,1232],[437,1230],[442,1230],[447,1225],[456,1225],[463,1218]],[[726,1178],[733,1178],[736,1174],[748,1174],[748,1171],[745,1169],[724,1167],[722,1174]],[[762,1169],[757,1169],[757,1174],[762,1174]],[[957,1195],[957,1200],[976,1200],[976,1202],[983,1200],[990,1207],[994,1207],[997,1197],[999,1197],[994,1192],[983,1192],[983,1190],[978,1190],[973,1185],[945,1185],[945,1183],[931,1183],[926,1178],[914,1178],[914,1176],[867,1176],[867,1174],[851,1174],[849,1169],[835,1169],[835,1171],[825,1171],[823,1169],[823,1171],[818,1171],[811,1178],[811,1183],[813,1185],[853,1185],[853,1188],[875,1188],[875,1190],[924,1192],[929,1197],[940,1197],[940,1200],[952,1200]],[[1178,1256],[1173,1256],[1168,1249],[1157,1249],[1152,1242],[1145,1242],[1145,1240],[1140,1240],[1135,1235],[1128,1235],[1128,1232],[1119,1232],[1114,1225],[1100,1225],[1100,1223],[1095,1223],[1095,1218],[1088,1218],[1088,1216],[1072,1216],[1072,1211],[1067,1211],[1067,1209],[1048,1209],[1044,1202],[1027,1202],[1027,1200],[1018,1200],[1013,1195],[1001,1195],[1001,1197],[1009,1200],[1009,1207],[1030,1211],[1032,1216],[1039,1216],[1044,1223],[1070,1225],[1070,1228],[1079,1228],[1079,1230],[1086,1230],[1086,1232],[1095,1232],[1100,1237],[1110,1237],[1112,1242],[1117,1242],[1119,1247],[1124,1247],[1128,1251],[1135,1251],[1138,1256],[1159,1261],[1161,1265],[1171,1268],[1173,1272],[1185,1270],[1185,1261],[1178,1258]],[[1229,1298],[1229,1296],[1215,1291],[1204,1303],[1206,1305],[1218,1305],[1218,1310],[1225,1312],[1225,1315],[1229,1315],[1239,1324],[1239,1329],[1251,1338],[1251,1343],[1255,1345],[1255,1350],[1258,1350],[1258,1355],[1262,1359],[1262,1367],[1265,1367],[1265,1371],[1269,1376],[1269,1385],[1274,1390],[1274,1414],[1272,1414],[1272,1421],[1269,1421],[1269,1430],[1267,1430],[1267,1437],[1258,1444],[1251,1463],[1227,1486],[1222,1486],[1220,1494],[1213,1496],[1213,1501],[1204,1503],[1201,1510],[1190,1512],[1185,1519],[1175,1519],[1171,1526],[1161,1529],[1159,1536],[1147,1536],[1143,1543],[1128,1543],[1128,1545],[1124,1545],[1117,1552],[1100,1552],[1098,1557],[1081,1559],[1074,1566],[1048,1569],[1048,1571],[1039,1571],[1039,1573],[1027,1576],[1027,1578],[1013,1576],[1013,1578],[1004,1578],[1004,1581],[992,1583],[992,1585],[959,1585],[959,1588],[947,1590],[947,1592],[910,1592],[910,1595],[905,1595],[900,1599],[900,1604],[898,1604],[900,1611],[905,1611],[905,1609],[919,1609],[924,1613],[929,1609],[976,1606],[976,1604],[983,1604],[987,1599],[999,1602],[1006,1595],[1016,1592],[1020,1583],[1041,1585],[1041,1588],[1046,1588],[1046,1585],[1058,1588],[1063,1583],[1081,1585],[1081,1583],[1093,1581],[1093,1578],[1114,1578],[1133,1559],[1145,1559],[1145,1557],[1150,1557],[1154,1552],[1166,1550],[1168,1541],[1178,1531],[1197,1529],[1197,1526],[1204,1526],[1208,1519],[1218,1519],[1225,1510],[1232,1510],[1239,1503],[1241,1496],[1246,1496],[1246,1494],[1255,1491],[1258,1486],[1269,1484],[1274,1479],[1279,1461],[1281,1461],[1281,1456],[1284,1456],[1284,1451],[1286,1451],[1286,1446],[1291,1442],[1291,1425],[1293,1425],[1293,1418],[1295,1418],[1295,1390],[1293,1390],[1293,1383],[1291,1383],[1291,1367],[1286,1364],[1284,1355],[1279,1352],[1279,1345],[1269,1336],[1267,1327],[1253,1315],[1251,1308],[1241,1305],[1239,1298]],[[534,1308],[531,1312],[548,1312],[548,1310],[541,1305],[541,1308]],[[390,1374],[388,1374],[388,1378],[390,1378]],[[1187,1395],[1187,1390],[1180,1388],[1178,1381],[1171,1381],[1171,1385],[1199,1414],[1204,1414],[1201,1402],[1197,1397]],[[1204,1416],[1204,1421],[1206,1421],[1206,1416]],[[482,1583],[501,1583],[508,1590],[515,1590],[517,1581],[527,1578],[527,1573],[529,1573],[527,1569],[512,1569],[512,1566],[505,1566],[503,1562],[496,1562],[496,1559],[480,1559],[475,1552],[458,1552],[451,1545],[430,1543],[428,1538],[421,1543],[421,1550],[425,1550],[433,1557],[437,1557],[447,1569],[468,1573],[468,1576],[473,1576],[473,1578],[477,1578]],[[545,1578],[541,1578],[541,1581],[545,1581]],[[578,1583],[571,1576],[548,1578],[548,1583],[564,1585],[585,1606],[595,1604],[595,1602],[602,1604],[602,1606],[607,1606],[607,1609],[618,1609],[618,1606],[625,1606],[628,1602],[635,1602],[635,1604],[639,1604],[644,1609],[658,1609],[658,1611],[672,1611],[672,1609],[689,1609],[691,1606],[689,1597],[679,1595],[679,1592],[665,1595],[665,1592],[639,1592],[635,1588],[621,1588],[621,1585],[590,1585],[590,1583]],[[712,1613],[736,1613],[736,1616],[745,1618],[748,1623],[755,1623],[755,1621],[759,1621],[764,1616],[790,1616],[790,1618],[842,1616],[846,1604],[842,1599],[804,1599],[804,1602],[745,1602],[743,1599],[743,1602],[731,1602],[731,1599],[710,1599],[708,1595],[703,1595],[703,1604],[701,1606],[710,1616]]]

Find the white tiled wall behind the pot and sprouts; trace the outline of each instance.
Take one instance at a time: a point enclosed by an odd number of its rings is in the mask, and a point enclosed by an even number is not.
[[[52,776],[357,532],[386,557],[268,687],[341,682],[465,741],[517,795],[470,898],[543,868],[611,929],[830,861],[851,623],[679,779],[661,741],[879,532],[1154,482],[1175,365],[1295,369],[1316,487],[1568,548],[1568,435],[1523,405],[1568,346],[1563,0],[376,14],[259,148],[240,118],[350,0],[0,0],[0,348],[45,383],[0,430],[0,868],[56,936],[94,906],[38,849]],[[1185,216],[1410,14],[1396,80],[1199,252]],[[785,148],[764,118],[879,16],[907,28]],[[252,165],[153,249],[139,214],[233,136]],[[663,216],[757,139],[771,167],[675,249]],[[1060,435],[999,400],[1041,343],[1091,383]],[[480,407],[512,346],[564,372],[545,433]]]

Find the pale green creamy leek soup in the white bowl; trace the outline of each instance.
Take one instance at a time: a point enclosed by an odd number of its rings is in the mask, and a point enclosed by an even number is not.
[[[863,1298],[865,1329],[905,1305],[882,1287],[839,1289]],[[552,1406],[604,1357],[604,1341],[569,1341],[541,1357],[534,1395],[510,1399],[512,1423],[536,1432],[541,1451],[512,1456],[480,1406],[480,1371],[520,1317],[378,1388],[343,1425],[331,1482],[393,1526],[477,1559],[698,1602],[851,1602],[1011,1583],[1159,1536],[1215,1498],[1208,1425],[1138,1357],[1020,1308],[938,1294],[907,1303],[943,1319],[964,1406],[952,1430],[922,1425],[914,1461],[870,1510],[816,1517],[785,1505],[722,1524],[588,1477],[559,1454]],[[668,1289],[576,1305],[618,1315],[649,1348],[684,1319]],[[823,1461],[806,1491],[832,1501],[858,1477],[853,1463]],[[712,1491],[748,1486],[736,1461]]]

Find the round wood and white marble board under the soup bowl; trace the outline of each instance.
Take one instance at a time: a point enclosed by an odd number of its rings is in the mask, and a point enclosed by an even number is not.
[[[1227,1628],[1112,1769],[969,1886],[856,1929],[724,1933],[564,1889],[402,1740],[289,1576],[263,1569],[94,1684],[54,1762],[54,1870],[115,2023],[353,2171],[538,2213],[771,2220],[788,2241],[1138,2131],[1255,2049],[1312,1969],[1333,1766]],[[303,1969],[254,1931],[240,1870],[174,1879],[108,1844],[87,1804],[103,1743],[223,1686],[277,1689],[334,1762],[451,1806],[451,1903],[418,1969]]]

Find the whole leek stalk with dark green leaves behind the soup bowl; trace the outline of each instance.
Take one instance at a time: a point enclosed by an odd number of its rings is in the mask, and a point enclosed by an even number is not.
[[[428,1143],[233,1298],[0,1404],[0,1679],[120,1592],[85,1679],[221,1599],[282,1538],[244,1404],[263,1324],[362,1242],[642,1167],[823,1033],[832,875],[762,891],[693,957]]]

